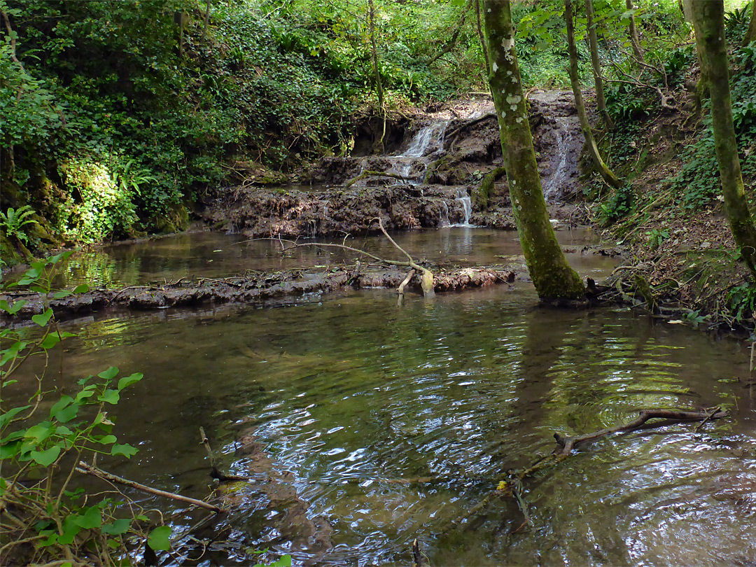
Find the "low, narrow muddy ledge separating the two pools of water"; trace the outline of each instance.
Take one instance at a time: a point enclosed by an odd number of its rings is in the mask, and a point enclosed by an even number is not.
[[[495,283],[512,282],[513,271],[498,268],[463,268],[445,271],[432,268],[433,285],[437,292],[465,290]],[[349,267],[331,268],[330,271],[283,271],[276,273],[248,273],[223,279],[200,278],[177,281],[164,286],[132,286],[122,290],[90,290],[63,299],[49,299],[58,321],[107,309],[166,309],[224,305],[228,303],[262,303],[268,299],[304,296],[309,293],[329,293],[345,287],[398,287],[407,270],[396,268]],[[412,278],[408,289],[421,292],[420,276]],[[25,321],[42,313],[45,303],[39,293],[0,293],[0,300],[25,301],[17,314],[3,311],[0,321],[11,324]]]

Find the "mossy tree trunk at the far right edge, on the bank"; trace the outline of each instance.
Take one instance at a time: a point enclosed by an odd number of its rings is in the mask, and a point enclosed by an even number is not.
[[[756,274],[756,227],[745,198],[733,126],[728,72],[730,62],[724,39],[724,4],[722,0],[692,2],[692,15],[696,42],[701,46],[703,65],[709,78],[714,150],[719,163],[724,210],[740,253],[751,272]]]

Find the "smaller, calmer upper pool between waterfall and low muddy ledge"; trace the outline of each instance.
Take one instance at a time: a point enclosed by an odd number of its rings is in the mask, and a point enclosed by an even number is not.
[[[586,229],[557,231],[565,246],[594,243]],[[409,231],[395,236],[398,244],[416,258],[453,265],[521,265],[522,250],[517,233],[491,228],[454,227]],[[383,236],[347,237],[302,242],[344,243],[387,259],[401,259],[401,253]],[[339,249],[305,247],[281,254],[290,242],[249,240],[239,234],[198,232],[178,234],[142,243],[124,243],[76,253],[62,268],[57,287],[87,283],[95,287],[122,287],[147,282],[175,281],[181,277],[227,277],[247,270],[276,271],[294,268],[323,268],[354,262],[355,253]],[[361,258],[365,263],[366,259]],[[615,261],[569,253],[569,262],[581,273],[600,277],[611,271]]]

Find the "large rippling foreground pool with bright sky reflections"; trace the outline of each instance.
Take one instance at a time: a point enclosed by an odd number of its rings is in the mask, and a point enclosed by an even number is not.
[[[333,548],[314,559],[291,550],[315,564],[407,565],[414,538],[431,565],[756,561],[756,392],[742,387],[738,343],[623,311],[536,308],[524,285],[404,308],[388,290],[314,301],[82,329],[68,376],[111,364],[145,374],[118,407],[119,435],[141,452],[111,468],[202,497],[197,427],[240,473],[235,442],[253,432],[308,516],[333,528]],[[525,483],[531,527],[511,500],[494,500],[452,528],[503,472],[550,451],[555,431],[714,405],[732,417],[605,438],[540,472]],[[445,478],[382,480],[417,476]],[[231,522],[287,550],[266,506],[250,494]]]

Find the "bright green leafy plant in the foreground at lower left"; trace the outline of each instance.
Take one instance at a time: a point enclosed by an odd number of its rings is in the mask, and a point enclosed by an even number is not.
[[[75,290],[52,290],[54,267],[71,253],[59,254],[43,262],[33,262],[17,283],[6,289],[28,287],[47,297],[60,299]],[[16,314],[26,302],[0,301],[0,310]],[[14,374],[31,358],[42,358],[45,369],[49,352],[73,336],[60,330],[51,308],[32,318],[35,328],[5,327],[0,330],[0,395],[14,383]],[[78,388],[55,395],[45,391],[45,373],[37,377],[36,392],[27,404],[8,407],[2,398],[0,412],[0,494],[3,511],[12,510],[14,522],[0,522],[5,544],[3,562],[38,564],[67,559],[73,564],[111,562],[131,563],[132,538],[144,541],[141,522],[146,516],[122,516],[122,500],[87,494],[73,488],[76,466],[80,460],[100,455],[131,457],[137,449],[119,444],[113,435],[114,417],[110,407],[118,404],[121,392],[141,380],[141,373],[119,378],[119,370],[110,367],[98,376],[78,381]],[[135,510],[132,508],[132,510]],[[166,549],[171,528],[160,526],[148,541]],[[24,545],[24,544],[32,544]]]

